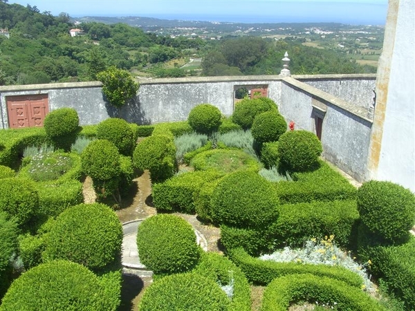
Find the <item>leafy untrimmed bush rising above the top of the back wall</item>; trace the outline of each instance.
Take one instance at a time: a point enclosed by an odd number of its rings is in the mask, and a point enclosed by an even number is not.
[[[127,70],[118,69],[116,66],[98,73],[97,79],[102,82],[102,93],[118,110],[127,100],[136,96],[139,87]]]

